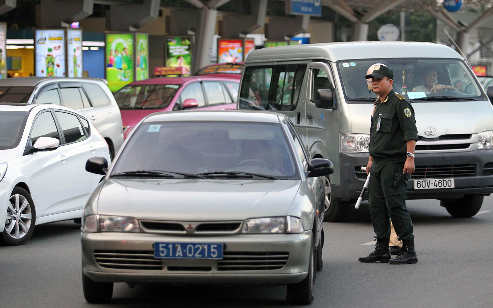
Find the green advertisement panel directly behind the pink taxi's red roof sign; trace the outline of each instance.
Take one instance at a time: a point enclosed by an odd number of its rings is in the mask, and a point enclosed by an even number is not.
[[[170,68],[184,68],[186,74],[191,73],[192,36],[166,36],[165,64]]]

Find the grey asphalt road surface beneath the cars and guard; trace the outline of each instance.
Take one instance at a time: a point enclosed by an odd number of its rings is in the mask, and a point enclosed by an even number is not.
[[[324,223],[324,267],[310,307],[475,308],[493,303],[493,196],[472,218],[453,218],[437,200],[408,201],[419,263],[359,263],[374,248],[368,203]],[[1,308],[288,307],[285,286],[116,283],[111,303],[82,294],[80,225],[36,226],[25,245],[0,247]]]

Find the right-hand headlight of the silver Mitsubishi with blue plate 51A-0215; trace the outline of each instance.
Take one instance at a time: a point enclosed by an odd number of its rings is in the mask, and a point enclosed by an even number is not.
[[[279,234],[303,233],[301,219],[293,216],[249,218],[243,223],[242,233]]]

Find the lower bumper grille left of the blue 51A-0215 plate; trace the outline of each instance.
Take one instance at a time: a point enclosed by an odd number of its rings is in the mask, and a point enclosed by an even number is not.
[[[121,270],[161,270],[162,261],[154,259],[152,250],[94,250],[99,266]]]

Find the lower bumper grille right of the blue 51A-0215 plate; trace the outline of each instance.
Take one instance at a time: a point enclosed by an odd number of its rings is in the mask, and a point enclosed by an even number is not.
[[[224,251],[217,261],[217,271],[279,270],[287,262],[288,252]]]

